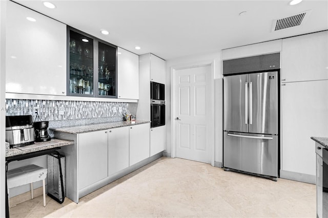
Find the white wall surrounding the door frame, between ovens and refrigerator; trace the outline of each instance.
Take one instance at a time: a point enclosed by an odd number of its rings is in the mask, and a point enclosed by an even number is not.
[[[222,66],[221,66],[221,50],[217,52],[176,58],[166,61],[166,152],[171,157],[172,154],[172,130],[171,130],[171,71],[173,68],[197,66],[197,63],[214,62],[214,72],[212,80],[214,80],[214,111],[212,117],[215,120],[214,127],[214,146],[215,146],[215,165],[221,166],[222,163],[222,146],[223,146],[223,115],[222,115]]]

